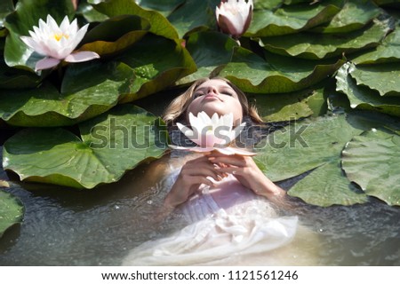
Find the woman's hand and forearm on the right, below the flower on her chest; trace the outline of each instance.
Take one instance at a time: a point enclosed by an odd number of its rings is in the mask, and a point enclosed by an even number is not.
[[[242,185],[250,188],[256,194],[268,198],[281,197],[285,194],[282,188],[264,175],[251,156],[212,153],[207,157],[210,162],[220,166],[217,169],[220,173],[233,174]]]

